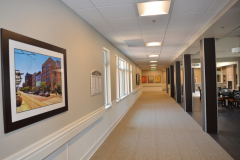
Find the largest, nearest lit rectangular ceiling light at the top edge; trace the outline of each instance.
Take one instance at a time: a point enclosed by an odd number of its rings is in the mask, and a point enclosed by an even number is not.
[[[138,3],[139,16],[168,14],[171,1],[153,1]]]

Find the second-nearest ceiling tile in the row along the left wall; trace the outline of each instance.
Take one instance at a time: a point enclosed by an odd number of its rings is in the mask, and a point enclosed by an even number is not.
[[[77,9],[74,11],[86,21],[105,21],[96,8]]]

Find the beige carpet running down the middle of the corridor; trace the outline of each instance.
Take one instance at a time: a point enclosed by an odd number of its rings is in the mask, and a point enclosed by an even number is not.
[[[232,159],[165,92],[145,92],[91,160]]]

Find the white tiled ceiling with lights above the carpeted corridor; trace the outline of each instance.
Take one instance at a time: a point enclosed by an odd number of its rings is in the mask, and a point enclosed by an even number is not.
[[[236,0],[172,0],[169,14],[144,17],[139,16],[137,3],[149,0],[62,1],[142,70],[150,70],[150,60],[158,61],[157,69],[174,61],[220,11]],[[146,47],[147,42],[162,45]],[[159,57],[149,58],[150,54]]]

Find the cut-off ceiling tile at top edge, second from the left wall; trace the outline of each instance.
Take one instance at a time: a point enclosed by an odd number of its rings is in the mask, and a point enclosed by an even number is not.
[[[132,4],[132,0],[91,0],[96,7]]]

